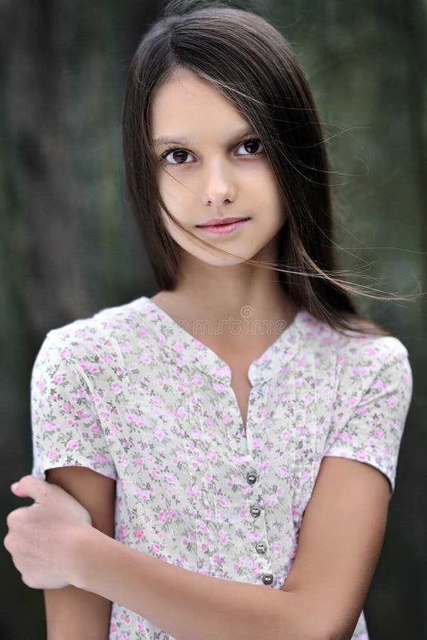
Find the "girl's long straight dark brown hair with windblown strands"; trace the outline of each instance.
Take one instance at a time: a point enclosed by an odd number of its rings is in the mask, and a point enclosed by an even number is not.
[[[251,123],[283,194],[287,220],[278,264],[247,262],[276,270],[288,298],[337,331],[392,335],[364,321],[349,294],[387,298],[345,282],[337,270],[327,147],[310,85],[290,44],[251,11],[223,2],[191,4],[169,2],[139,42],[122,109],[130,205],[160,290],[174,290],[179,274],[179,246],[167,233],[162,208],[185,233],[211,246],[176,220],[157,186],[150,105],[155,90],[184,68],[211,82]]]

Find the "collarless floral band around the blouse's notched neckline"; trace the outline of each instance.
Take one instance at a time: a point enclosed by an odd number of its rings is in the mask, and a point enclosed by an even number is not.
[[[172,350],[178,356],[179,365],[191,368],[196,366],[218,383],[231,385],[231,368],[216,351],[192,336],[151,298],[143,296],[137,302],[142,304],[142,311],[149,316],[144,328],[157,336],[162,348]],[[302,343],[300,338],[307,319],[312,319],[307,309],[298,309],[285,330],[252,361],[248,368],[252,386],[272,378],[296,355]],[[153,325],[152,320],[156,324]]]

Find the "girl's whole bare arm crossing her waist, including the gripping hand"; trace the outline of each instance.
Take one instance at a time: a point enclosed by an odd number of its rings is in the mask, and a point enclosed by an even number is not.
[[[350,640],[384,540],[389,491],[373,466],[325,457],[283,590],[206,576],[126,547],[90,526],[65,491],[33,476],[14,489],[35,503],[9,513],[5,546],[28,586],[74,585],[177,640]]]

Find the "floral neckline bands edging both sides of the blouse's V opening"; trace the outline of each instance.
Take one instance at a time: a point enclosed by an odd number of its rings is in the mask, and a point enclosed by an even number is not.
[[[164,346],[169,346],[169,348],[173,348],[175,352],[181,354],[182,364],[188,362],[189,365],[198,366],[204,370],[205,373],[216,378],[218,382],[223,380],[231,385],[231,367],[214,349],[204,342],[201,342],[199,338],[190,334],[189,331],[186,331],[179,322],[174,320],[172,316],[169,316],[167,311],[164,311],[164,309],[152,299],[144,296],[141,297],[138,302],[147,303],[148,306],[144,307],[144,311],[155,312],[160,322],[162,333],[166,333],[165,338],[170,338],[171,334],[176,338],[175,343],[171,343],[170,340],[165,340]],[[280,353],[280,365],[284,364],[283,361],[287,359],[288,356],[290,357],[296,353],[297,338],[300,335],[300,324],[302,319],[307,315],[310,314],[308,314],[304,307],[299,309],[285,330],[279,334],[275,341],[273,341],[258,358],[252,361],[248,368],[248,379],[252,386],[254,386],[260,378],[263,378],[262,374],[267,374],[267,377],[270,377],[268,373],[274,373],[270,368],[270,363],[275,352],[278,351]],[[151,323],[148,324],[147,329],[151,329],[151,332],[154,331],[157,333],[156,327],[151,326]]]

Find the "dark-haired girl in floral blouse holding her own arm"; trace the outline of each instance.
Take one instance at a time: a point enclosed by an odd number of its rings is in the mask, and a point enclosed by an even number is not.
[[[249,11],[172,4],[122,133],[159,293],[36,358],[13,489],[35,503],[5,545],[49,638],[366,640],[411,367],[335,267],[295,53]]]

